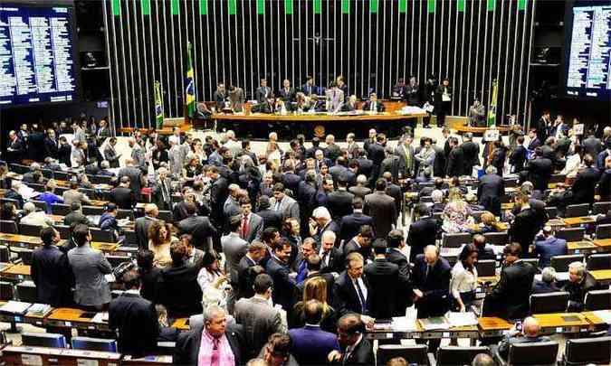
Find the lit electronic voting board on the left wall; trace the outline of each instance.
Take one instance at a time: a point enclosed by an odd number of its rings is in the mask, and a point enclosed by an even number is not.
[[[77,99],[74,8],[0,4],[0,108]]]

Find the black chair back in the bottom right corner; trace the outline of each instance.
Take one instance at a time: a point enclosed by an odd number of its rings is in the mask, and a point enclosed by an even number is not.
[[[568,366],[589,363],[611,363],[611,336],[599,338],[568,339],[564,350]]]

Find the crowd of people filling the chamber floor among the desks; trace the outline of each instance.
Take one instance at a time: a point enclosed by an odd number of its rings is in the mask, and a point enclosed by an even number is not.
[[[587,291],[597,288],[581,262],[570,265],[568,281],[556,283],[549,260],[567,253],[566,241],[546,225],[545,209],[611,201],[611,127],[602,139],[577,136],[561,117],[552,123],[546,116],[529,132],[529,145],[517,129],[507,145],[501,137],[481,145],[448,129],[444,140],[423,136],[415,143],[407,128],[393,146],[372,129],[362,145],[348,134],[347,147],[330,135],[306,147],[298,136],[287,151],[271,133],[255,154],[232,131],[222,141],[202,141],[178,128],[167,137],[137,130],[121,166],[106,121],[89,133],[75,124],[69,155],[60,154],[68,148],[55,140],[64,131],[52,127],[44,153],[34,156],[43,162],[31,164],[21,182],[0,166],[5,198],[14,200],[0,213],[2,220],[43,227],[43,247],[32,259],[39,302],[108,310],[122,353],[141,356],[158,339],[170,339],[177,342],[177,364],[373,364],[365,333],[376,319],[405,316],[413,305],[418,318],[479,307],[478,260],[502,258],[484,315],[526,318],[530,295],[557,286],[568,291],[570,309],[580,311]],[[8,153],[33,144],[34,131],[25,125],[12,131]],[[98,225],[117,239],[125,235],[117,211],[135,210],[151,197],[135,220],[136,242],[126,243],[138,246],[138,266],[118,278],[126,291],[115,299],[105,277],[113,268],[91,248],[93,223],[81,212],[90,200],[79,191],[87,174],[77,174],[59,196],[56,182],[41,173],[66,166],[111,177]],[[474,168],[483,171],[475,188],[465,179]],[[560,172],[568,182],[549,191],[552,174]],[[503,176],[510,174],[520,185],[513,209],[504,211]],[[28,183],[44,184],[37,200],[70,205],[63,221],[70,239],[62,246],[48,212],[22,197]],[[413,217],[405,192],[417,193]],[[160,211],[171,211],[172,220],[161,220]],[[501,221],[509,225],[509,244],[496,253],[483,234],[501,231]],[[597,223],[611,223],[611,211]],[[451,265],[438,240],[458,232],[472,233],[473,243]],[[539,268],[521,258],[539,258]],[[182,317],[190,317],[189,332],[169,326]],[[524,321],[524,337],[539,339],[538,332],[536,319]],[[503,340],[500,352],[511,342]],[[439,343],[429,340],[429,350]]]

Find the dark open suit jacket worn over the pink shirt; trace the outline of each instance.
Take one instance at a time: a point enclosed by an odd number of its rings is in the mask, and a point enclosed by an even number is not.
[[[204,324],[199,324],[194,329],[178,334],[174,357],[172,363],[175,365],[197,365],[199,347],[202,344],[202,333]],[[229,346],[234,352],[236,365],[242,365],[242,349],[244,347],[242,328],[234,324],[227,324],[224,331]]]

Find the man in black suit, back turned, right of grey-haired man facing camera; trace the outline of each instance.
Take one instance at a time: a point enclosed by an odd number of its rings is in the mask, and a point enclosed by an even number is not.
[[[404,316],[406,307],[397,299],[403,294],[412,292],[409,277],[399,271],[399,266],[391,263],[387,257],[387,242],[376,239],[372,245],[376,258],[365,267],[371,292],[369,293],[369,315],[376,319],[390,319],[393,316]],[[392,288],[392,291],[387,291]]]

